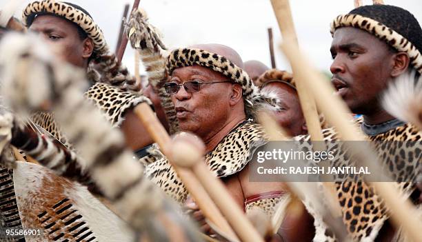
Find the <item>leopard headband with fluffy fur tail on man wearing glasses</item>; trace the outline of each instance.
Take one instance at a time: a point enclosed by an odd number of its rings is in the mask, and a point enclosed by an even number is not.
[[[192,65],[210,68],[241,85],[246,117],[254,119],[261,109],[279,110],[277,95],[261,92],[248,73],[220,54],[195,48],[180,48],[170,53],[165,66],[171,75],[174,69]]]

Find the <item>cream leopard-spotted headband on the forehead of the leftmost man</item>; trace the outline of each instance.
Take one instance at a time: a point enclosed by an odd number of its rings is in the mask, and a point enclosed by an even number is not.
[[[96,54],[102,55],[108,52],[108,46],[106,39],[104,38],[103,31],[99,28],[97,23],[94,23],[94,20],[92,20],[92,18],[85,12],[60,1],[34,1],[29,3],[25,10],[23,10],[23,24],[25,24],[25,26],[28,28],[32,21],[34,21],[34,17],[41,13],[54,14],[58,17],[68,19],[68,21],[77,24],[94,42],[94,52]]]

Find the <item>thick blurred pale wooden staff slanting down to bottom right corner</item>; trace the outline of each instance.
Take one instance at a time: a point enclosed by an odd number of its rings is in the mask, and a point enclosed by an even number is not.
[[[332,95],[334,88],[322,77],[321,73],[312,68],[312,65],[301,54],[297,45],[287,40],[281,45],[281,49],[290,60],[291,65],[297,67],[298,72],[296,74],[308,85],[309,90],[314,92],[316,103],[327,117],[328,122],[334,125],[339,136],[345,141],[365,141],[365,136],[361,130],[350,123],[348,107],[341,101],[340,97]],[[372,152],[368,153],[369,149],[356,150],[354,145],[351,145],[350,148],[352,154],[362,158],[362,165],[369,168],[373,168],[376,165],[374,160],[372,160]],[[374,186],[376,193],[384,199],[385,205],[390,208],[392,221],[395,225],[397,227],[402,225],[403,231],[410,236],[412,241],[420,241],[422,238],[422,223],[414,216],[417,213],[412,203],[408,200],[397,199],[396,196],[400,192],[394,187],[393,183],[372,182],[370,185]]]

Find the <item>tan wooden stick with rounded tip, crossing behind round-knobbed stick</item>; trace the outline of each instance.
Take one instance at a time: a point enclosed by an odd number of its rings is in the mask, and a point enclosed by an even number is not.
[[[172,163],[172,156],[170,153],[170,137],[165,131],[165,128],[163,128],[163,125],[161,125],[157,116],[154,114],[154,112],[152,112],[150,106],[146,103],[141,103],[134,108],[134,113],[137,114],[139,119],[141,119],[143,125],[145,125],[152,139],[154,139],[154,141],[159,145],[161,152],[163,152],[170,163]],[[179,175],[180,179],[183,181],[185,187],[190,192],[192,198],[203,212],[204,216],[212,221],[212,223],[219,226],[223,232],[230,236],[230,239],[233,241],[239,241],[232,228],[230,228],[228,222],[224,219],[223,215],[212,201],[210,196],[207,194],[207,192],[204,190],[204,188],[200,185],[192,171],[179,168],[173,163],[172,166],[176,173]]]

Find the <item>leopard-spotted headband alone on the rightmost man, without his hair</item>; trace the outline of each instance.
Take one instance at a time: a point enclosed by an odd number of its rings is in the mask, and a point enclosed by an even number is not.
[[[334,31],[341,27],[354,27],[369,32],[375,37],[385,41],[389,46],[392,46],[399,52],[406,52],[409,54],[410,63],[413,67],[422,74],[422,54],[408,39],[403,37],[398,32],[388,28],[383,23],[363,17],[359,14],[343,14],[336,17],[331,23],[331,35]]]

